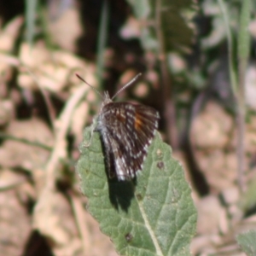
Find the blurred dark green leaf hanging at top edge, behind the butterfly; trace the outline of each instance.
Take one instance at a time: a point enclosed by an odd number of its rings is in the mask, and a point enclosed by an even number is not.
[[[195,25],[192,21],[198,9],[194,0],[126,1],[143,25],[141,42],[144,49],[159,49],[160,38],[157,38],[156,30],[162,30],[166,52],[183,52],[190,48],[195,35]],[[160,4],[160,24],[157,24],[156,20],[157,4]]]

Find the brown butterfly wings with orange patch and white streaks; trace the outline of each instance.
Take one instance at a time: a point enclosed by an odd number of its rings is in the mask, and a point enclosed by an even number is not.
[[[131,179],[143,169],[159,119],[154,108],[143,105],[109,102],[103,106],[97,128],[102,133],[108,171],[111,172],[109,163],[113,161],[119,180]]]

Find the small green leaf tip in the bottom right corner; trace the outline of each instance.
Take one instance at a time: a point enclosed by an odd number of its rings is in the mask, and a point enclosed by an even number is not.
[[[247,253],[247,256],[256,255],[256,230],[250,230],[245,233],[239,234],[236,241],[241,249]]]

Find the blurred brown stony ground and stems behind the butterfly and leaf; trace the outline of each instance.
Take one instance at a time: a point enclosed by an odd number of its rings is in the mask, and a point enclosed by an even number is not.
[[[75,173],[102,101],[76,73],[110,96],[143,73],[115,101],[159,111],[199,214],[192,253],[244,255],[234,237],[256,224],[256,3],[239,90],[230,69],[238,78],[241,1],[135,2],[0,2],[3,255],[118,255],[84,210]]]

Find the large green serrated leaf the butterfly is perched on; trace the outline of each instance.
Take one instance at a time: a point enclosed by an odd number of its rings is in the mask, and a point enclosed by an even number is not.
[[[88,210],[110,236],[121,255],[190,255],[196,212],[181,164],[157,134],[148,148],[143,171],[136,181],[108,178],[102,143],[95,132],[90,147],[90,127],[77,172],[81,189],[89,199]]]

